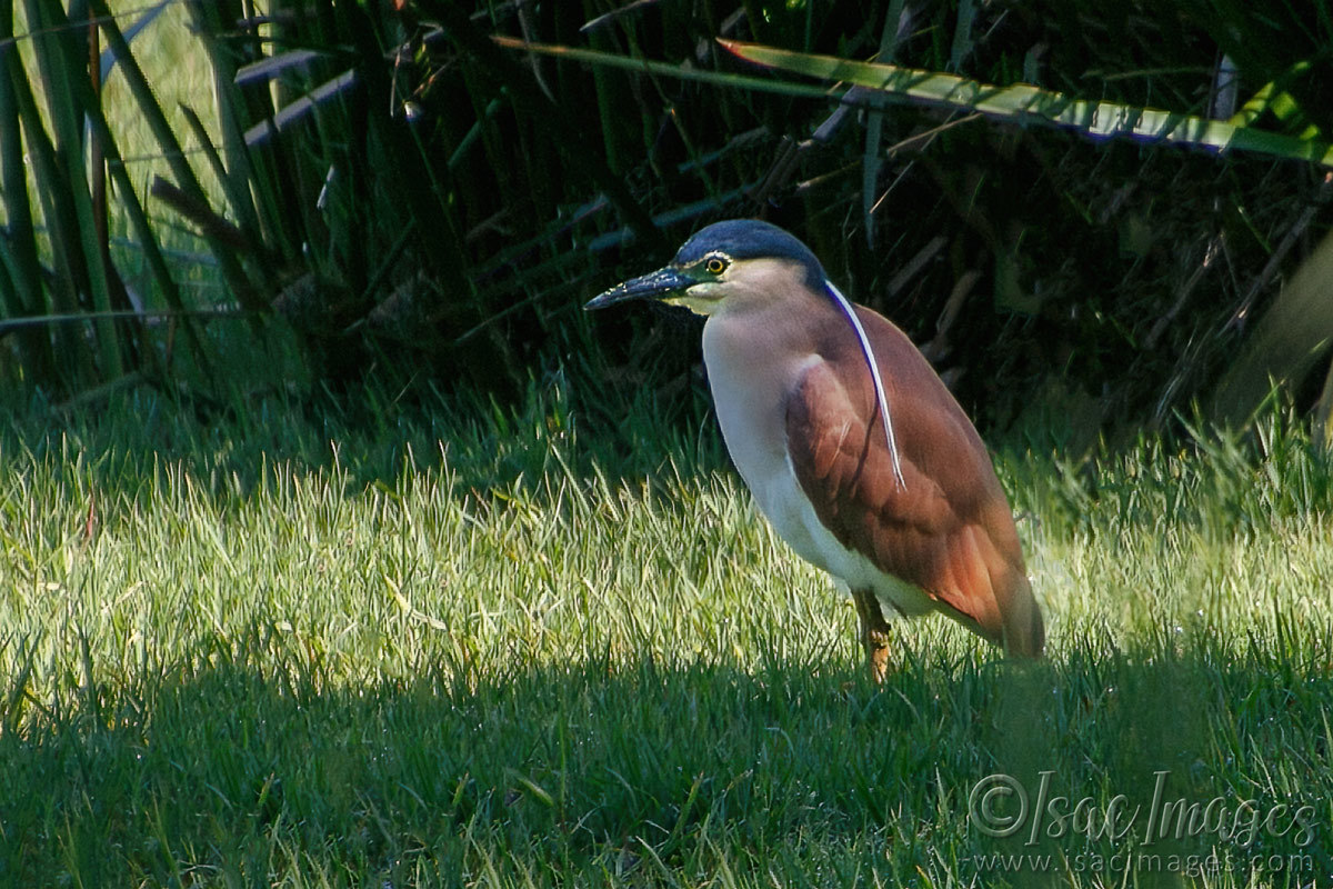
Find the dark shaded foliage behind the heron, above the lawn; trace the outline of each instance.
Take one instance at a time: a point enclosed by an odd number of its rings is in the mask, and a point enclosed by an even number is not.
[[[898,321],[984,424],[1137,428],[1209,395],[1326,229],[1310,164],[1098,143],[866,92],[840,105],[714,41],[1202,116],[1266,96],[1257,124],[1326,139],[1324,3],[272,0],[248,20],[251,5],[191,0],[224,99],[211,163],[227,207],[155,193],[329,381],[504,396],[559,364],[612,389],[680,391],[697,380],[694,325],[628,312],[591,325],[577,307],[706,223],[760,216]]]

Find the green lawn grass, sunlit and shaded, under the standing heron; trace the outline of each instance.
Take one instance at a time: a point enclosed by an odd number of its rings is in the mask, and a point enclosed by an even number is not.
[[[1298,423],[1002,454],[1048,660],[934,618],[876,688],[709,425],[596,399],[12,412],[0,884],[1333,885]]]

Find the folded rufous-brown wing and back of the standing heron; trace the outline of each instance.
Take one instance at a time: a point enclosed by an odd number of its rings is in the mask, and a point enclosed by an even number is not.
[[[1041,614],[985,445],[906,336],[873,312],[860,315],[885,377],[905,484],[893,474],[865,361],[834,340],[786,404],[801,489],[844,546],[982,636],[1038,654]]]

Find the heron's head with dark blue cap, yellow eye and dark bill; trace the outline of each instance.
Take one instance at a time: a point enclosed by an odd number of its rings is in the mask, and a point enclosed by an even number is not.
[[[584,308],[661,300],[717,315],[802,291],[820,293],[824,287],[824,267],[810,248],[769,223],[737,219],[700,229],[666,267],[617,284]]]

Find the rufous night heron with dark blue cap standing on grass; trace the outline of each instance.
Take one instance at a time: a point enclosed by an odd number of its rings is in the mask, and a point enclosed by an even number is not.
[[[874,681],[889,621],[933,612],[1006,654],[1042,654],[1013,513],[976,427],[908,336],[842,296],[810,248],[770,223],[713,223],[584,308],[631,300],[705,316],[732,462],[777,536],[850,593]]]

